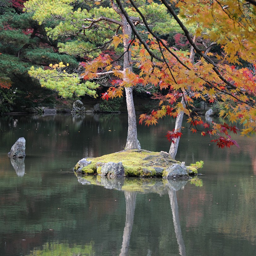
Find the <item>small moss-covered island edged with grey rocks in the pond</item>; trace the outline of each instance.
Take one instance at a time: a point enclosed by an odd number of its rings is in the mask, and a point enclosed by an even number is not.
[[[203,162],[185,166],[172,159],[167,152],[151,152],[143,149],[123,150],[96,158],[83,158],[74,167],[78,174],[109,177],[163,177],[189,178],[197,175]]]

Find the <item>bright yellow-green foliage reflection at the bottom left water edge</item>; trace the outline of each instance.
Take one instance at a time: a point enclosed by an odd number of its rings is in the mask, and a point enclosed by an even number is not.
[[[29,256],[78,256],[78,255],[88,255],[94,256],[94,242],[91,241],[89,244],[76,245],[72,247],[67,243],[45,243],[42,248],[36,248],[30,252]]]

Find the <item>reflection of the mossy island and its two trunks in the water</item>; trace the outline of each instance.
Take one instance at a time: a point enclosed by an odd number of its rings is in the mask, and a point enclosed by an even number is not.
[[[179,254],[186,256],[185,245],[181,233],[179,221],[178,203],[176,191],[183,188],[188,180],[160,180],[160,179],[139,179],[139,178],[109,178],[100,176],[81,176],[76,174],[79,183],[94,184],[104,186],[105,188],[118,189],[125,191],[126,218],[123,234],[123,242],[119,256],[127,256],[131,231],[133,226],[136,192],[156,192],[159,194],[168,193],[172,208],[172,219],[175,235],[179,246]]]

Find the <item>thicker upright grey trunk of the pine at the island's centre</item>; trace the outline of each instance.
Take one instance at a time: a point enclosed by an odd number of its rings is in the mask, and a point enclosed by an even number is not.
[[[122,32],[124,37],[124,80],[126,79],[126,73],[132,72],[132,62],[131,62],[131,26],[127,22],[125,15],[121,13],[118,7],[115,5],[113,0],[111,1],[113,9],[118,13],[122,19]],[[125,149],[141,149],[140,143],[137,139],[137,124],[136,124],[136,114],[134,108],[134,102],[132,97],[132,88],[125,88],[126,94],[126,105],[128,111],[128,134],[126,140]]]

